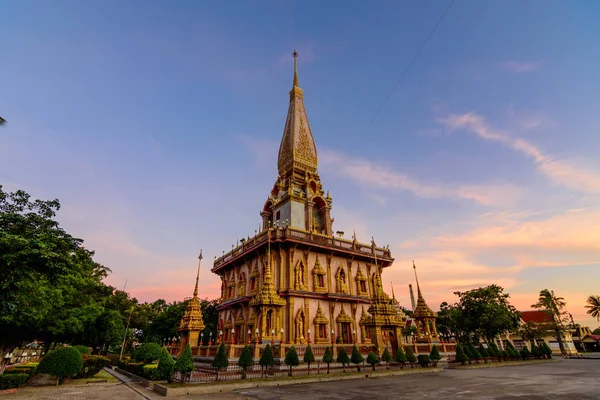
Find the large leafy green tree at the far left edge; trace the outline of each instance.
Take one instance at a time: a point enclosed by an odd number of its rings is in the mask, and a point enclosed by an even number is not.
[[[103,312],[109,270],[54,220],[58,200],[0,186],[0,362],[24,341],[80,340]]]

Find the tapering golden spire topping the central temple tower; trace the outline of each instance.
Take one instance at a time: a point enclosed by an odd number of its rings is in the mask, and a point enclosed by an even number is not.
[[[317,172],[318,157],[315,140],[310,130],[302,89],[298,83],[296,58],[294,50],[294,83],[290,90],[290,106],[279,146],[277,169],[283,176],[292,169],[300,169],[312,173]]]

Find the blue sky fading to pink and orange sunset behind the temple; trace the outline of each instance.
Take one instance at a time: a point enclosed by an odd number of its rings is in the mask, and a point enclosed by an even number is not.
[[[200,249],[217,297],[214,257],[277,178],[297,49],[334,230],[389,244],[401,304],[415,260],[434,309],[548,288],[596,327],[600,3],[456,0],[398,83],[449,4],[5,0],[0,184],[58,198],[139,300],[189,297]]]

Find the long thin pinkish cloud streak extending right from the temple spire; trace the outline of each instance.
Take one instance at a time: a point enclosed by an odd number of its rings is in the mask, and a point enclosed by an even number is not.
[[[333,174],[354,180],[362,186],[381,190],[408,191],[422,198],[459,198],[492,206],[512,204],[521,195],[521,189],[509,184],[481,186],[425,184],[390,167],[326,149],[320,152],[319,160],[321,166],[328,168]]]

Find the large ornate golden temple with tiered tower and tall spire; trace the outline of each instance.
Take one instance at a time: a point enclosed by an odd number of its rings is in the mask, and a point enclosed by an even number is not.
[[[401,343],[404,315],[384,292],[388,248],[335,237],[333,200],[299,86],[293,87],[279,147],[278,177],[252,238],[214,261],[221,278],[219,338],[228,343]]]

